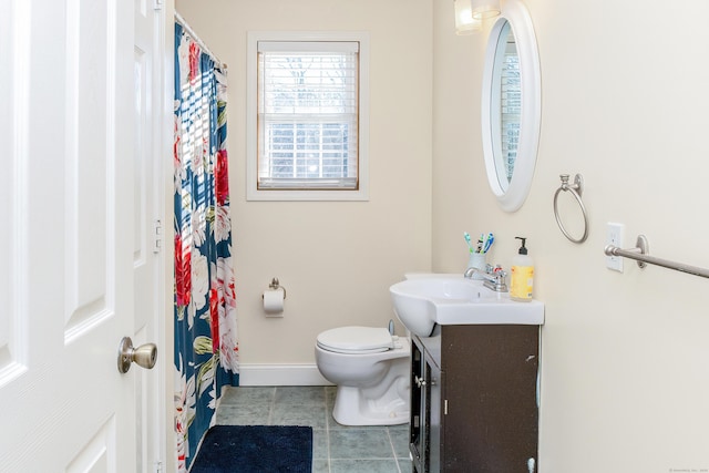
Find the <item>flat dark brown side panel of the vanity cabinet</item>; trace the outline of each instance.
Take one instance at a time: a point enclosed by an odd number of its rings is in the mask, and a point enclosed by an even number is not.
[[[537,457],[537,326],[443,326],[445,472],[527,472]]]

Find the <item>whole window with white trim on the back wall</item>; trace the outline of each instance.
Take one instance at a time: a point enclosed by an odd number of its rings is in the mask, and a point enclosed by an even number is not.
[[[247,198],[366,200],[363,34],[250,33]]]

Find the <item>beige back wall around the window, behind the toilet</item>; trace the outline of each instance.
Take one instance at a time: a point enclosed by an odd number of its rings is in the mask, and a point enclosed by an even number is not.
[[[178,0],[175,8],[229,66],[242,363],[314,363],[320,331],[386,327],[394,317],[389,286],[431,265],[431,3]],[[369,32],[369,202],[246,202],[246,37],[278,30]],[[260,305],[273,277],[288,291],[282,319],[265,318]]]

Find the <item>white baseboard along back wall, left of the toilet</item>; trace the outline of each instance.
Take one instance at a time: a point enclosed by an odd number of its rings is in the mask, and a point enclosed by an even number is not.
[[[239,385],[332,385],[320,374],[317,364],[239,366]]]

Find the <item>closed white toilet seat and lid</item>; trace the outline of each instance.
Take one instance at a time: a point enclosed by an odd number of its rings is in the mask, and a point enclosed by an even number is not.
[[[320,333],[317,345],[336,353],[379,353],[394,348],[394,337],[386,328],[339,327]]]

